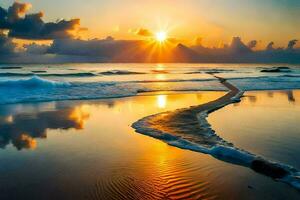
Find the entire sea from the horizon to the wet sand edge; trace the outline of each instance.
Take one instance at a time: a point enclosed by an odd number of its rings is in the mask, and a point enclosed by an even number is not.
[[[226,90],[209,73],[241,90],[300,88],[300,67],[280,64],[0,65],[0,104],[103,99],[157,91]]]

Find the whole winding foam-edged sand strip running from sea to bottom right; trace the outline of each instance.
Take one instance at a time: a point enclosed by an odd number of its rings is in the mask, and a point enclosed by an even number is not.
[[[300,172],[297,169],[238,149],[232,143],[220,138],[211,129],[207,122],[208,114],[239,102],[244,92],[227,82],[226,79],[212,73],[210,75],[228,88],[227,94],[206,104],[142,118],[133,123],[132,127],[138,133],[160,139],[171,146],[210,154],[219,160],[248,167],[257,173],[300,190]],[[195,135],[197,137],[193,137]]]

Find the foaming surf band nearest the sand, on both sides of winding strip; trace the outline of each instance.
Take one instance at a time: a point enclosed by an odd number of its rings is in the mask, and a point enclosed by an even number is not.
[[[64,82],[52,81],[45,76],[29,78],[9,77],[0,81],[0,104],[103,99],[134,96],[142,92],[160,91],[224,91],[219,81],[212,78],[133,80],[118,82]],[[57,78],[56,78],[57,79]],[[227,79],[242,90],[279,90],[300,88],[299,77],[265,76]],[[22,91],[20,91],[22,89]],[[234,100],[234,99],[233,99]]]

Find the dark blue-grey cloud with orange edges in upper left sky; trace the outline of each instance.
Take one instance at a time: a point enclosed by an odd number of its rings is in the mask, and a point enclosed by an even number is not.
[[[15,2],[7,10],[0,7],[0,29],[8,30],[10,37],[29,40],[71,38],[83,28],[80,19],[45,23],[43,13],[26,14],[30,4]]]

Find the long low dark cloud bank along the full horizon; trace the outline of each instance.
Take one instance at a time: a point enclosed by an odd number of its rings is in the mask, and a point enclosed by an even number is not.
[[[203,45],[185,46],[173,43],[157,51],[156,43],[144,40],[106,39],[55,39],[51,45],[32,43],[16,51],[16,44],[0,34],[0,63],[65,63],[65,62],[212,62],[212,63],[300,63],[300,49],[296,40],[289,48],[253,50],[256,41],[247,45],[234,37],[230,45],[208,48]],[[178,44],[178,45],[176,45]]]

